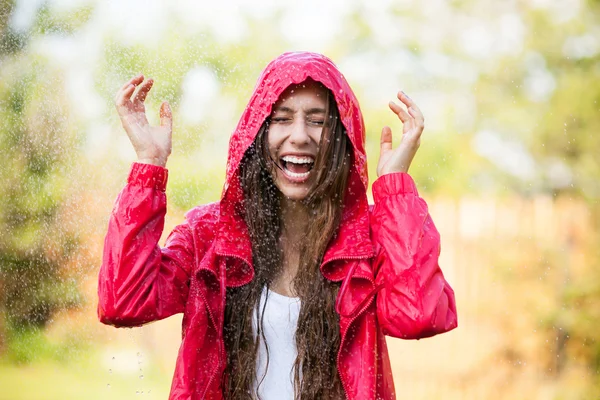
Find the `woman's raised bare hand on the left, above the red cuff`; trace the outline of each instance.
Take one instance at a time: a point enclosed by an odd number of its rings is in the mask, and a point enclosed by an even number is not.
[[[173,115],[169,103],[165,101],[160,106],[160,125],[150,126],[148,123],[144,101],[153,83],[152,79],[144,81],[144,75],[141,74],[130,79],[117,92],[115,105],[137,154],[137,162],[165,167],[171,154]],[[138,86],[139,90],[133,95]]]

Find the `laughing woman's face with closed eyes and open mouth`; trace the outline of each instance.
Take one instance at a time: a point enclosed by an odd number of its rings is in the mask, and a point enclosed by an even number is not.
[[[276,163],[273,181],[290,200],[304,199],[314,181],[312,170],[323,124],[327,91],[319,83],[306,81],[288,87],[274,104],[267,141]]]

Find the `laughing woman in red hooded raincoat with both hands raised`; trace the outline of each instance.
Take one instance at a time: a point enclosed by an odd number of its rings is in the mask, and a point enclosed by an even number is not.
[[[335,65],[285,53],[263,71],[229,146],[221,201],[186,214],[160,248],[171,111],[150,127],[151,80],[116,106],[138,155],[108,227],[102,322],[136,326],[183,312],[170,399],[393,399],[384,335],[457,326],[438,266],[439,234],[407,174],[423,116],[390,102],[400,145],[381,133],[367,204],[365,129]],[[136,87],[138,88],[137,92]]]

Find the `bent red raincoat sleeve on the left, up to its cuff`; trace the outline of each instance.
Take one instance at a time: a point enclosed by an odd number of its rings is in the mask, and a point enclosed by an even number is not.
[[[134,163],[117,197],[104,242],[98,281],[98,317],[114,326],[138,326],[183,312],[189,291],[193,239],[187,223],[162,235],[167,200],[165,168]]]

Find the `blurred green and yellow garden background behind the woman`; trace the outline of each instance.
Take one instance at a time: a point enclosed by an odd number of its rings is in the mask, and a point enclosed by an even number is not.
[[[173,107],[168,232],[219,199],[229,135],[289,50],[350,82],[371,181],[397,90],[426,117],[411,175],[459,328],[389,339],[398,398],[600,398],[599,20],[598,0],[0,0],[0,399],[167,398],[181,317],[96,318],[135,159],[114,94],[144,73],[151,121]]]

